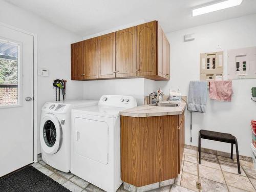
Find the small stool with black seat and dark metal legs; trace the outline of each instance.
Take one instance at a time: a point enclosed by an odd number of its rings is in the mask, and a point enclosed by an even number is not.
[[[231,143],[231,155],[230,159],[233,159],[233,144],[236,145],[237,161],[238,161],[238,173],[241,174],[239,152],[238,152],[238,141],[237,138],[228,133],[213,132],[207,130],[200,130],[198,137],[198,152],[199,152],[199,164],[201,164],[201,139],[208,139],[213,141],[220,141],[225,143]]]

